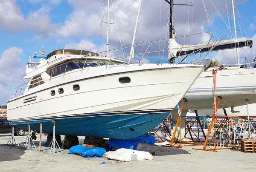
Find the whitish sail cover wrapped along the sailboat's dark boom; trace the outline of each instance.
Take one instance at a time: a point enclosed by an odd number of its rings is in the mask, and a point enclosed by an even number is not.
[[[216,45],[216,46],[215,46]],[[253,45],[252,40],[216,40],[212,43],[202,43],[197,45],[180,45],[176,42],[175,38],[169,40],[169,58],[178,57],[182,55],[188,55],[191,53],[201,53],[208,52],[212,47],[212,51],[223,50],[223,49],[234,49],[239,47],[247,47],[250,48]]]

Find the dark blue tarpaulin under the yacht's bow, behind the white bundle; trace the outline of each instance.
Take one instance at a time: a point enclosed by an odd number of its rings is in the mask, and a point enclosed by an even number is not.
[[[108,145],[110,147],[113,146],[117,149],[132,148],[132,149],[136,150],[139,142],[146,142],[148,144],[154,144],[156,142],[156,139],[151,135],[140,136],[137,138],[130,138],[130,139],[112,139],[111,138],[108,140]]]

